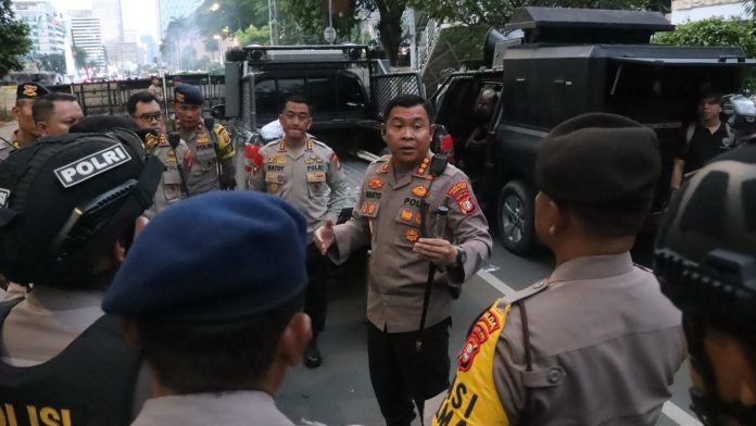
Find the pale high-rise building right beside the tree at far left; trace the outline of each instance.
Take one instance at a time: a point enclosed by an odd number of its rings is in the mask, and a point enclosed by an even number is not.
[[[50,0],[15,0],[12,5],[16,17],[32,28],[33,57],[65,54],[66,23]]]

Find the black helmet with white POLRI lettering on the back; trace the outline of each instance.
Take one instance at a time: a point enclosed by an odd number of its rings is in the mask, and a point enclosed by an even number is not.
[[[152,203],[163,165],[128,130],[40,138],[0,163],[0,273],[42,283]],[[72,260],[73,259],[73,260]]]

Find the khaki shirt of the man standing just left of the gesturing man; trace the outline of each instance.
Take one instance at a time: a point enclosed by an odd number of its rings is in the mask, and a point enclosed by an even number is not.
[[[263,166],[253,170],[248,186],[277,195],[297,208],[307,220],[307,242],[326,218],[336,223],[344,208],[346,184],[333,150],[313,139],[292,150],[281,139],[263,147],[260,154]]]

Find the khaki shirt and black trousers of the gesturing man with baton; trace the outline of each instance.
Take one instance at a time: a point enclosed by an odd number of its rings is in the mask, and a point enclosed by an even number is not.
[[[449,386],[449,327],[454,298],[461,286],[491,254],[486,217],[467,176],[448,165],[433,178],[430,158],[404,174],[396,174],[391,156],[367,167],[352,218],[335,227],[337,263],[366,245],[373,253],[368,267],[368,361],[381,413],[388,424],[410,424],[413,401],[423,402]],[[429,262],[413,252],[421,238],[420,209],[427,206],[427,229],[433,233],[440,205],[449,208],[444,238],[458,245],[467,259],[459,266],[437,272],[426,320],[418,333]],[[423,350],[415,349],[421,337]]]

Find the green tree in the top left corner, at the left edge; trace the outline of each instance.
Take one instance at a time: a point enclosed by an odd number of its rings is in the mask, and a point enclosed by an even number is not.
[[[32,50],[29,26],[15,20],[11,0],[0,0],[0,78],[23,70],[22,57]]]

